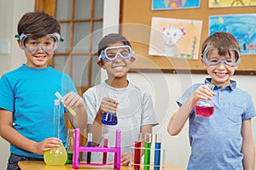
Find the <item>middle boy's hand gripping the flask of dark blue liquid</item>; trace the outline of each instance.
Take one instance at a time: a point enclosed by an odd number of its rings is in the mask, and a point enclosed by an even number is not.
[[[105,97],[102,99],[102,104],[100,105],[100,113],[115,113],[117,111],[117,106],[119,105],[119,101],[115,99],[111,99],[108,97]]]

